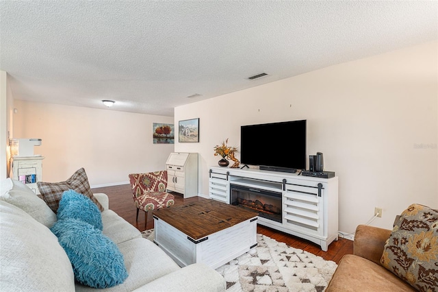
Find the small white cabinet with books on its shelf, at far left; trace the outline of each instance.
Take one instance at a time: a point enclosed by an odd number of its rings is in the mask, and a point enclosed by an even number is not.
[[[36,182],[42,181],[42,160],[44,156],[14,156],[12,158],[12,179],[20,180],[34,193],[40,194]]]

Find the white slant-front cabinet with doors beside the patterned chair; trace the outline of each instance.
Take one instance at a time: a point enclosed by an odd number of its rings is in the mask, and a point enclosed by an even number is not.
[[[184,198],[198,195],[198,154],[171,153],[166,161],[167,191]]]

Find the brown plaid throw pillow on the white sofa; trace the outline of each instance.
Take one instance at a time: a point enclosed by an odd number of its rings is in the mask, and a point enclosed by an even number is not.
[[[97,205],[99,210],[101,210],[101,212],[103,211],[102,205],[97,201],[91,191],[87,174],[83,168],[78,169],[65,182],[37,182],[36,184],[40,190],[42,199],[44,199],[44,202],[46,202],[55,213],[57,212],[58,206],[60,206],[62,193],[70,189],[89,197],[92,202]]]

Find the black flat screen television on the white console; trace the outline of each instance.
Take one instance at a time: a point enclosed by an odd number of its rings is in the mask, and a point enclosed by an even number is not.
[[[242,125],[240,161],[272,171],[306,169],[306,134],[306,120]]]

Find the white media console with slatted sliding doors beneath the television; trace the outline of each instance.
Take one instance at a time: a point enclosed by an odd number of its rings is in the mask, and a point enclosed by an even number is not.
[[[263,194],[273,195],[280,202],[279,219],[267,213],[259,215],[257,223],[312,241],[324,252],[337,240],[337,188],[337,176],[326,179],[259,169],[209,168],[211,199],[231,204],[233,193],[242,191],[247,197],[254,194],[259,203]]]

